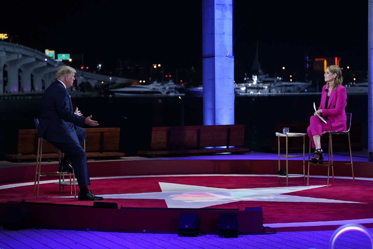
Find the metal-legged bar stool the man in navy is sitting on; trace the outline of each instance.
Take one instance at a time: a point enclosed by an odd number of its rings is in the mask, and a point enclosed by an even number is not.
[[[35,122],[36,129],[38,130],[39,120],[37,118],[34,118],[34,122]],[[40,177],[42,176],[58,176],[60,193],[61,193],[61,177],[63,177],[63,180],[65,180],[65,176],[68,176],[70,179],[70,194],[72,194],[72,184],[71,184],[71,177],[72,177],[73,185],[74,185],[74,197],[76,198],[74,169],[72,170],[72,172],[59,172],[59,171],[41,172],[41,156],[43,152],[43,141],[46,141],[46,140],[44,140],[44,138],[42,137],[38,137],[38,149],[37,149],[37,156],[36,156],[35,181],[34,181],[34,195],[36,191],[36,199],[38,199],[38,196],[39,196],[39,183],[40,183]],[[59,151],[59,161],[60,159],[61,159],[61,153]]]

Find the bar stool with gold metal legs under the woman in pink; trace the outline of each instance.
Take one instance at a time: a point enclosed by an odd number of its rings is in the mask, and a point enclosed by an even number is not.
[[[355,185],[355,177],[354,177],[354,165],[352,164],[352,152],[351,152],[351,140],[350,140],[350,129],[351,129],[351,117],[352,113],[346,113],[347,121],[346,121],[346,127],[348,128],[347,131],[324,131],[322,134],[329,134],[329,145],[328,145],[328,160],[327,164],[321,164],[323,166],[327,166],[327,187],[329,187],[329,167],[332,166],[332,177],[333,177],[333,183],[334,183],[334,169],[333,165],[350,165],[352,169],[352,182]],[[332,134],[347,134],[348,135],[348,146],[350,148],[350,159],[351,162],[346,164],[335,164],[333,162],[333,144],[332,144]],[[308,149],[308,159],[311,158],[311,139],[310,138],[310,147]],[[331,159],[331,162],[330,162]],[[316,165],[313,163],[310,163],[308,161],[308,173],[307,173],[307,186],[310,179],[310,165]]]

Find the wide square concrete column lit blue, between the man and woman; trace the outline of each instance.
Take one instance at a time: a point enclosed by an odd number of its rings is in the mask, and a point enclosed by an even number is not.
[[[233,0],[202,1],[203,124],[234,124]]]

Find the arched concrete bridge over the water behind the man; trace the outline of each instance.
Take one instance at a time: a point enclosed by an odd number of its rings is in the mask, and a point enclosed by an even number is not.
[[[0,94],[42,93],[54,80],[63,62],[35,49],[0,41]],[[76,69],[76,85],[89,82],[103,84],[135,83],[137,80],[94,74]]]

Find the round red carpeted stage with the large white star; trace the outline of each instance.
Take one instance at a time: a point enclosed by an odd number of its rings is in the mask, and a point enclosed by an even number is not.
[[[302,174],[302,165],[303,161],[289,161],[289,172]],[[373,198],[367,191],[373,188],[372,163],[354,163],[355,185],[350,167],[335,166],[335,182],[330,178],[329,188],[326,167],[321,166],[311,168],[310,186],[307,177],[306,184],[303,177],[289,178],[289,186],[281,178],[279,184],[276,160],[121,160],[90,162],[88,166],[90,190],[105,197],[105,202],[115,202],[123,208],[244,211],[247,207],[261,207],[264,226],[278,231],[332,230],[349,223],[373,227]],[[43,165],[43,170],[56,167]],[[69,186],[59,194],[56,180],[45,177],[36,200],[32,194],[34,168],[30,165],[0,169],[2,180],[7,182],[0,186],[1,203],[24,199],[93,205],[70,196]]]

